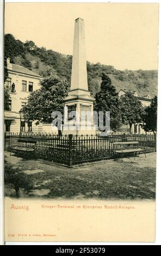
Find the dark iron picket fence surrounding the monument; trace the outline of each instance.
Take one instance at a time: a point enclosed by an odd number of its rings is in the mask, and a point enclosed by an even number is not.
[[[109,135],[101,137],[5,133],[4,148],[8,150],[17,145],[29,148],[29,141],[33,140],[36,141],[34,159],[44,159],[66,164],[70,167],[85,162],[114,159],[117,157],[113,146],[114,142],[138,141],[139,148],[146,148],[147,153],[156,151],[155,135]]]

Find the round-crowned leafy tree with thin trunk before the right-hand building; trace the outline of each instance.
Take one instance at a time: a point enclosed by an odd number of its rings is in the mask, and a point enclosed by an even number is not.
[[[144,107],[131,92],[122,95],[120,101],[122,122],[123,124],[129,124],[129,131],[131,134],[132,124],[143,121]]]

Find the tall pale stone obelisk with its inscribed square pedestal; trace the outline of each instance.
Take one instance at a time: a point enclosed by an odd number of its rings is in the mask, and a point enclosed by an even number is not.
[[[88,90],[84,20],[75,20],[71,86],[64,99],[63,135],[95,135],[94,97]]]

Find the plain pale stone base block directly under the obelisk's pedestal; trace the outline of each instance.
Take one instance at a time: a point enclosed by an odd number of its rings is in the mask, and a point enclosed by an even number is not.
[[[70,135],[72,134],[73,136],[78,135],[96,135],[96,126],[95,125],[91,125],[91,126],[86,126],[86,125],[63,125],[63,129],[62,129],[62,134],[63,136],[65,135]]]

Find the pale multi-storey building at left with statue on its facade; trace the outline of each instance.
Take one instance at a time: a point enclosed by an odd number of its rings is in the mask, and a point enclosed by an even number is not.
[[[38,132],[40,128],[31,120],[25,122],[20,109],[26,105],[27,98],[34,90],[40,89],[42,77],[23,66],[10,63],[7,59],[8,78],[4,86],[10,95],[9,110],[4,109],[5,132]]]

